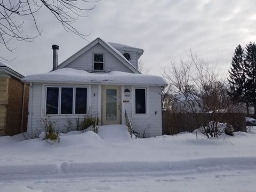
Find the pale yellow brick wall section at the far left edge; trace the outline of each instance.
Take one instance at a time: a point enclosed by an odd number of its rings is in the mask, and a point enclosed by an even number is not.
[[[6,134],[6,112],[8,104],[8,77],[0,77],[0,136]]]

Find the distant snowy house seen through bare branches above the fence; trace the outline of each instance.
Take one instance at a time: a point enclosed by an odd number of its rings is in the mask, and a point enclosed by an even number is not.
[[[202,113],[203,100],[194,94],[177,94],[174,97],[174,109],[177,112]]]

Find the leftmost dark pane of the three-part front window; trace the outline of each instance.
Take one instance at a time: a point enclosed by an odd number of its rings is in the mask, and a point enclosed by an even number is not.
[[[58,114],[59,87],[47,87],[46,114]]]

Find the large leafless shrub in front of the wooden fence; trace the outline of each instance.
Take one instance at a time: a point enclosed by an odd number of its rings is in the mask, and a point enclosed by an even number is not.
[[[173,105],[170,106],[173,113],[203,114],[205,122],[199,130],[206,137],[218,137],[221,134],[218,122],[223,120],[232,103],[227,94],[226,81],[220,78],[216,66],[211,67],[190,51],[187,61],[181,60],[177,65],[171,60],[171,68],[164,69],[164,76],[173,85],[173,103],[175,94],[183,98],[179,102],[184,110],[177,111]]]

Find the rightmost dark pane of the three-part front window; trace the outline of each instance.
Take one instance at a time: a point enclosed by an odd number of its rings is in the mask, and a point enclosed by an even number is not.
[[[76,114],[86,114],[87,88],[76,88]]]

